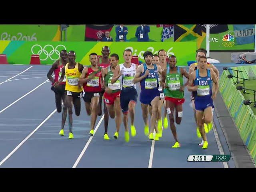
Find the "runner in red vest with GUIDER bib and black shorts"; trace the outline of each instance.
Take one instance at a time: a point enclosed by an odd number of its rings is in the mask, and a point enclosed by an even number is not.
[[[102,92],[102,67],[97,65],[98,58],[96,53],[91,53],[90,66],[84,67],[78,84],[83,84],[83,99],[86,112],[91,116],[90,136],[94,135],[94,126],[99,113],[99,94]]]

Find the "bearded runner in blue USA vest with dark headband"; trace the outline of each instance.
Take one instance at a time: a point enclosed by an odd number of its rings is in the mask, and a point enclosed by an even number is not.
[[[149,134],[150,140],[159,140],[158,131],[156,128],[156,114],[158,102],[160,100],[160,92],[158,90],[158,74],[162,71],[156,64],[152,64],[152,52],[146,51],[144,54],[145,63],[140,65],[136,70],[134,83],[140,82],[140,102],[142,108],[142,116],[145,123],[144,133]],[[152,116],[150,118],[150,130],[148,127],[148,105],[152,106]],[[153,138],[154,129],[156,130],[155,138]]]

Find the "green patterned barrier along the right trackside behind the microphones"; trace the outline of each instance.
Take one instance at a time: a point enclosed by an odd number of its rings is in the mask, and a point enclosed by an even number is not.
[[[232,69],[241,70],[239,77],[249,78],[248,73],[256,70],[256,66],[234,67]],[[241,138],[248,147],[252,158],[256,162],[256,116],[250,106],[243,104],[244,96],[234,85],[236,79],[227,78],[228,74],[233,74],[233,71],[223,71],[219,81],[219,91],[236,123]],[[235,74],[236,75],[236,74]]]

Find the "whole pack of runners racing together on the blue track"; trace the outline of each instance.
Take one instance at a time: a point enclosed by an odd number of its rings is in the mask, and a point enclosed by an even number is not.
[[[207,62],[206,50],[199,49],[196,52],[197,62],[190,65],[189,72],[176,65],[176,56],[167,57],[165,50],[159,50],[158,54],[154,55],[146,51],[143,56],[145,60],[143,64],[134,64],[131,62],[132,50],[126,49],[123,52],[124,63],[119,64],[118,54],[110,54],[110,48],[104,46],[101,63],[98,55],[91,53],[90,66],[83,66],[75,61],[74,51],[62,50],[60,59],[54,62],[47,74],[52,82],[51,89],[55,92],[57,112],[62,111],[59,134],[64,136],[64,124],[68,115],[68,138],[74,138],[72,106],[76,116],[79,116],[82,97],[86,112],[91,116],[89,135],[93,136],[97,117],[102,115],[103,99],[104,140],[110,140],[108,136],[110,117],[116,122],[114,138],[118,139],[123,121],[124,140],[129,142],[129,117],[131,136],[136,136],[134,116],[139,87],[141,88],[139,100],[144,121],[144,134],[150,140],[159,140],[162,137],[163,128],[168,128],[169,117],[170,129],[175,140],[172,148],[179,148],[181,145],[176,124],[180,124],[182,120],[184,89],[187,86],[188,91],[191,92],[197,136],[202,137],[199,146],[207,149],[206,133],[212,129],[213,100],[218,90],[219,73],[214,65]],[[186,83],[183,80],[184,77],[188,79]],[[139,83],[139,86],[137,84],[136,87],[136,83]],[[162,114],[162,108],[164,108],[164,114]]]

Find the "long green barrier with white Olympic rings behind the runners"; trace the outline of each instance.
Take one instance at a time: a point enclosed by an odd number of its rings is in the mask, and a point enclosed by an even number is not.
[[[147,50],[157,54],[164,49],[167,55],[177,57],[178,66],[187,66],[187,61],[194,60],[196,52],[195,42],[35,42],[35,41],[0,41],[0,54],[6,54],[10,64],[29,64],[32,54],[40,56],[41,64],[52,64],[59,58],[62,49],[74,50],[76,61],[83,65],[90,65],[89,54],[95,52],[101,55],[103,46],[109,46],[111,53],[119,55],[120,63],[124,61],[122,55],[127,48],[132,55],[138,56],[144,62],[143,53]],[[110,54],[111,54],[110,53]]]

